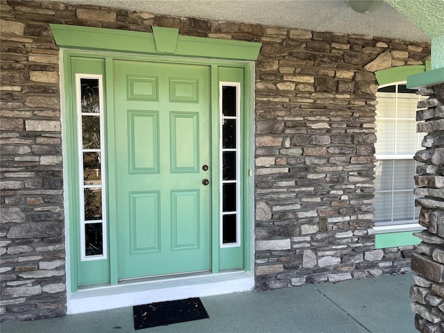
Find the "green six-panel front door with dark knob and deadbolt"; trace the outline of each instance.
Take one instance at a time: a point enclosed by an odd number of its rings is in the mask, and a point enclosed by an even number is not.
[[[114,60],[113,71],[118,278],[209,271],[210,67]]]

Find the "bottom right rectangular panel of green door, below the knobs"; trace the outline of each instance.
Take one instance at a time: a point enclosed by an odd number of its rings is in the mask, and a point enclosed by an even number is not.
[[[171,191],[171,249],[199,248],[199,190]]]

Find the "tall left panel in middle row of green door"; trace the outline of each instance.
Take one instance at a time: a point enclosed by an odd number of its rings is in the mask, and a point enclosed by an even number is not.
[[[130,173],[159,173],[157,111],[128,110]]]

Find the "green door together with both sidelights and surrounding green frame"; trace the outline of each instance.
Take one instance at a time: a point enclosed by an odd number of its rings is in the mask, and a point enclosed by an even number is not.
[[[249,267],[246,65],[66,60],[71,290]]]

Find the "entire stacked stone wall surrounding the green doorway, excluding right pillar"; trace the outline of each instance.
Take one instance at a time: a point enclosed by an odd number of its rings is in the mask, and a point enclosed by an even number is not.
[[[2,320],[66,311],[59,49],[48,23],[262,42],[255,82],[257,289],[409,270],[375,250],[374,71],[430,45],[99,6],[1,1]],[[251,226],[253,228],[253,225]]]

